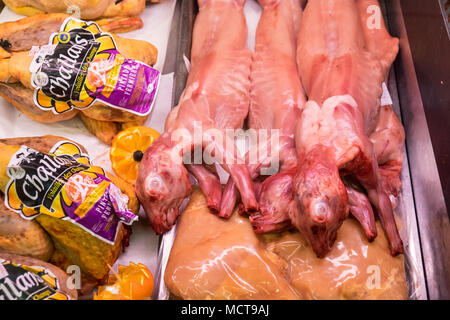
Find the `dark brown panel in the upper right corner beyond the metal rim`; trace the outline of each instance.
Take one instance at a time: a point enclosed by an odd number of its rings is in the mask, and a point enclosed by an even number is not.
[[[401,0],[401,5],[448,209],[450,208],[450,39],[439,0]]]

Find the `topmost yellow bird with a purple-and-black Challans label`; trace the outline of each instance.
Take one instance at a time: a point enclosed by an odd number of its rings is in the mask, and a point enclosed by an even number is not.
[[[0,96],[30,118],[52,123],[80,115],[111,144],[124,128],[145,122],[160,73],[157,49],[66,14],[0,24]]]

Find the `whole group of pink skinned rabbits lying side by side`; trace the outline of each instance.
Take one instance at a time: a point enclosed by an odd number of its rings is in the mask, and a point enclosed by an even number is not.
[[[198,1],[186,89],[140,167],[137,194],[152,226],[163,233],[176,222],[191,172],[212,213],[228,218],[240,200],[255,232],[295,227],[318,257],[332,249],[349,213],[370,241],[378,217],[391,254],[403,253],[393,209],[404,132],[380,100],[398,39],[387,33],[377,1],[310,0],[304,12],[298,0],[259,2],[264,10],[252,55],[245,2]],[[241,164],[237,147],[225,147],[228,138],[174,138],[180,128],[193,134],[195,123],[271,134]],[[214,168],[184,156],[211,144],[216,163],[230,173],[223,191]],[[261,150],[265,156],[251,163]],[[262,175],[274,158],[278,172]]]

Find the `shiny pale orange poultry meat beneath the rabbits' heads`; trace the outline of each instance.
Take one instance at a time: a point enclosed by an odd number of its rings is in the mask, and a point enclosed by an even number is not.
[[[378,224],[379,227],[379,224]],[[354,219],[325,259],[297,231],[256,235],[234,212],[212,215],[196,188],[180,218],[165,283],[182,299],[407,299],[403,256],[381,232],[368,242]]]

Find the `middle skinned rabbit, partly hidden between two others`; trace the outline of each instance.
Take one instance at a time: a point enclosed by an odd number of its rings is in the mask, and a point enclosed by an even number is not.
[[[294,133],[306,103],[296,64],[301,1],[259,1],[264,8],[256,32],[252,64],[250,128],[279,130],[280,172],[264,180],[259,211],[250,215],[257,233],[292,227],[287,212],[292,199],[290,172],[297,166]],[[287,218],[287,219],[286,219]]]

